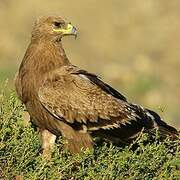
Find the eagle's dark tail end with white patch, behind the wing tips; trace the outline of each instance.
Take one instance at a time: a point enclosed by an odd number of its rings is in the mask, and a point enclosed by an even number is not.
[[[162,138],[166,138],[168,136],[173,140],[178,138],[179,133],[174,127],[165,123],[156,112],[149,109],[146,109],[146,111],[147,116],[154,121],[154,127],[147,129],[147,132],[154,134],[157,130]]]

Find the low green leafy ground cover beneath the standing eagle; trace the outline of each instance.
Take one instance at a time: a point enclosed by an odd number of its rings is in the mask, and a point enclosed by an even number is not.
[[[0,96],[0,179],[179,179],[179,141],[132,145],[102,143],[72,156],[57,140],[52,160],[40,155],[37,132],[22,118],[24,107],[12,93]],[[135,143],[134,143],[135,144]]]

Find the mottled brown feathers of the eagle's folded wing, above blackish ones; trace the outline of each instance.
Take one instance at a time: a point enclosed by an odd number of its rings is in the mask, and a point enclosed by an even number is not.
[[[52,115],[71,124],[86,124],[87,129],[119,127],[121,123],[136,119],[127,111],[129,106],[124,98],[113,96],[110,86],[106,87],[102,81],[98,86],[92,76],[89,79],[90,74],[88,77],[80,72],[75,66],[63,66],[47,75],[38,95]]]

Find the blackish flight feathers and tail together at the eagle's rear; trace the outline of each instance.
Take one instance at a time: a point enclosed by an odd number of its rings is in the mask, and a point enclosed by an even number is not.
[[[128,123],[121,124],[118,128],[93,131],[92,136],[102,137],[116,145],[131,143],[141,132],[147,132],[152,136],[156,136],[158,132],[161,140],[167,137],[170,137],[172,140],[178,138],[178,131],[165,123],[156,112],[135,104],[130,105],[133,112],[137,115],[136,119],[129,119]]]

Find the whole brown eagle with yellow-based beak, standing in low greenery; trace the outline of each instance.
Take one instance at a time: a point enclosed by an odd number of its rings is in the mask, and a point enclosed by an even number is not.
[[[176,129],[155,112],[127,102],[96,75],[69,62],[61,38],[76,33],[60,17],[39,18],[16,77],[17,94],[39,128],[43,153],[49,153],[59,135],[73,153],[91,148],[92,136],[129,143],[143,129],[159,129],[175,137]]]

